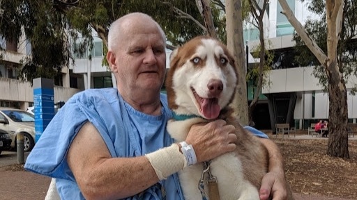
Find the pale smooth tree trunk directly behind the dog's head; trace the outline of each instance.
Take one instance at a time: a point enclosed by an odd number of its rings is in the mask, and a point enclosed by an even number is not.
[[[231,103],[234,115],[238,117],[243,126],[248,125],[248,100],[245,51],[243,44],[243,22],[242,22],[242,3],[241,0],[226,1],[226,31],[227,47],[236,60],[238,72],[238,86],[234,101]]]

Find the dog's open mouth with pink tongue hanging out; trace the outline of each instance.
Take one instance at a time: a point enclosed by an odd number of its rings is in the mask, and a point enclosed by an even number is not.
[[[220,105],[218,105],[218,98],[202,98],[199,97],[195,89],[191,88],[193,95],[199,104],[199,113],[206,119],[215,119],[220,115]]]

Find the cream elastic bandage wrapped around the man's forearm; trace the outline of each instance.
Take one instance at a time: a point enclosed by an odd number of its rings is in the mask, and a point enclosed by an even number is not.
[[[180,152],[177,144],[172,144],[170,147],[159,149],[145,156],[153,166],[160,181],[187,166],[186,158]]]

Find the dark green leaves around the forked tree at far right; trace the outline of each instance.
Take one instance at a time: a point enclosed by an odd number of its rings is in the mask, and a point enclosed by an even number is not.
[[[357,60],[357,5],[352,0],[345,0],[344,5],[344,17],[342,22],[342,32],[340,34],[340,41],[337,47],[337,62],[340,67],[339,70],[347,80],[351,74],[357,74],[357,67],[353,64]],[[305,28],[307,33],[317,42],[319,47],[327,55],[327,24],[326,24],[326,5],[325,1],[313,0],[308,6],[309,10],[315,12],[317,15],[323,17],[319,19],[308,19],[305,23]],[[296,42],[296,49],[298,56],[296,56],[296,61],[300,66],[316,66],[314,68],[314,76],[319,78],[319,84],[324,87],[327,91],[328,79],[324,67],[321,67],[319,61],[311,53],[301,38],[295,34],[294,41]]]

